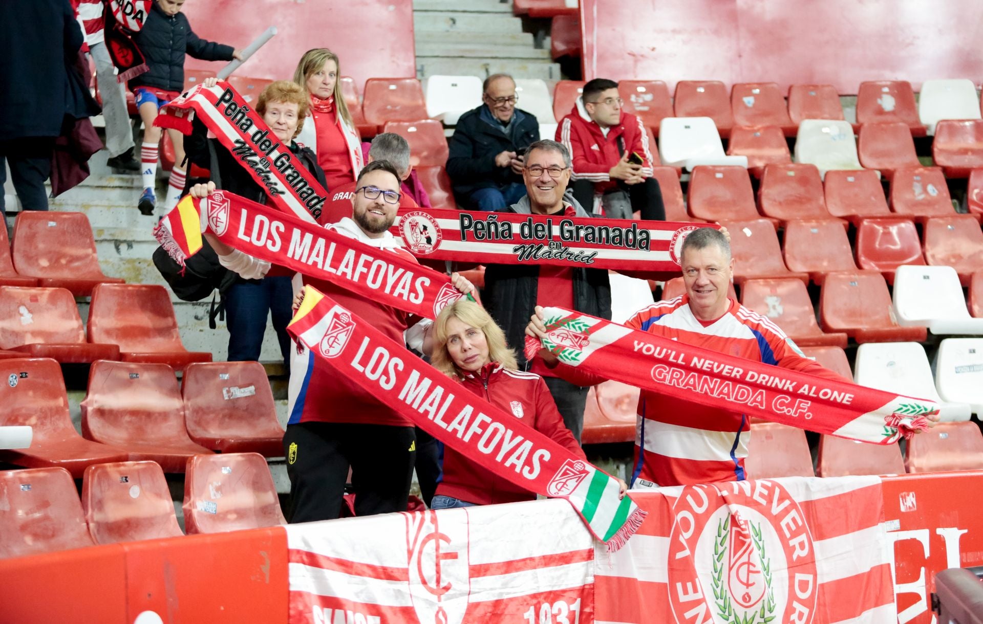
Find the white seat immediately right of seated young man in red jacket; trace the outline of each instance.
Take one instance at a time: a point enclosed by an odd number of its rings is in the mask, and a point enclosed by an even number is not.
[[[659,156],[669,167],[737,165],[747,167],[747,156],[723,153],[721,136],[709,117],[666,117],[659,126]]]

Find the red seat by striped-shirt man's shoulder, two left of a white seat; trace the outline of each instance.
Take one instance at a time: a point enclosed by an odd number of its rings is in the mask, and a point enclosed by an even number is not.
[[[801,280],[749,279],[741,286],[740,303],[775,321],[799,347],[846,346],[846,334],[828,334],[819,328],[816,311]]]

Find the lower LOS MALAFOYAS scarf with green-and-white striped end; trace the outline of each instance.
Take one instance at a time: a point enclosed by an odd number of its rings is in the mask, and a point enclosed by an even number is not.
[[[287,331],[316,357],[494,475],[565,498],[609,551],[645,519],[617,480],[463,388],[316,288]]]

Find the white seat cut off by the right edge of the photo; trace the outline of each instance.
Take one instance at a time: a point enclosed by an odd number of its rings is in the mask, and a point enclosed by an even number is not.
[[[935,359],[935,385],[944,401],[968,403],[983,417],[983,338],[946,338]]]

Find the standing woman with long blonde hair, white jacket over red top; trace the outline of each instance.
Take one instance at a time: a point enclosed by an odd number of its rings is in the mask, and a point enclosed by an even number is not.
[[[365,159],[362,140],[341,95],[338,56],[327,48],[308,50],[297,64],[294,82],[307,89],[311,104],[309,122],[297,142],[318,154],[328,191],[355,182]]]

